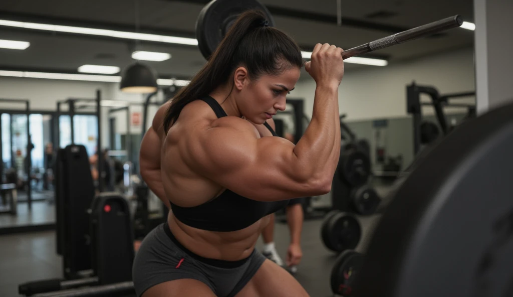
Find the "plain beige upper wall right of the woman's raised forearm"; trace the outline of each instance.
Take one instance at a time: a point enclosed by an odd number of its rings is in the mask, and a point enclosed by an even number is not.
[[[340,113],[347,114],[347,121],[404,117],[407,115],[406,85],[413,80],[419,85],[435,86],[440,93],[475,90],[473,49],[390,63],[385,67],[346,70],[339,88]],[[311,117],[314,94],[315,82],[304,72],[289,96],[304,98],[305,113]],[[461,102],[474,101],[470,98]],[[450,112],[463,110],[451,109]],[[424,108],[423,113],[432,114],[432,108]]]

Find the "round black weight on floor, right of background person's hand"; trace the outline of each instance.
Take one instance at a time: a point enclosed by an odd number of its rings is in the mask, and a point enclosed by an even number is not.
[[[336,252],[356,248],[362,235],[358,219],[344,212],[332,216],[327,221],[326,231],[329,243],[327,247]]]

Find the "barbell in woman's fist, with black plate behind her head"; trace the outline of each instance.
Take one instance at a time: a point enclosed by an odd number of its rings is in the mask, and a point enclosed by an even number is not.
[[[269,26],[274,26],[274,19],[271,13],[258,0],[212,0],[201,10],[198,20],[196,20],[196,39],[205,59],[209,59],[239,14],[252,9],[261,10],[267,18]],[[457,28],[462,24],[463,18],[460,15],[446,17],[436,22],[345,50],[342,53],[342,58],[345,60],[356,55]]]

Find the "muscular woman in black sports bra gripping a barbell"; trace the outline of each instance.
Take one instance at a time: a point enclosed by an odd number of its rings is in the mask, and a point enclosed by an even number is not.
[[[288,199],[330,191],[340,154],[342,49],[317,44],[305,69],[317,83],[312,120],[296,145],[261,137],[285,109],[303,66],[298,45],[241,14],[208,63],[157,112],[141,174],[171,209],[133,265],[137,296],[308,296],[254,249]]]

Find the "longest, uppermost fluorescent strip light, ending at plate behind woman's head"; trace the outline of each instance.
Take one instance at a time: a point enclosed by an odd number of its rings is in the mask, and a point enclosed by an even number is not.
[[[196,40],[194,38],[184,38],[184,37],[165,36],[165,35],[146,34],[146,33],[124,32],[124,31],[115,31],[115,30],[106,30],[106,29],[71,27],[71,26],[60,26],[60,25],[49,25],[49,24],[40,24],[40,23],[27,23],[27,22],[15,22],[15,21],[7,21],[7,20],[0,20],[0,26],[17,27],[17,28],[34,29],[34,30],[55,31],[55,32],[76,33],[76,34],[86,34],[86,35],[110,36],[110,37],[122,38],[122,39],[134,39],[134,40],[146,40],[146,41],[156,41],[156,42],[164,42],[164,43],[198,45],[198,40]]]

